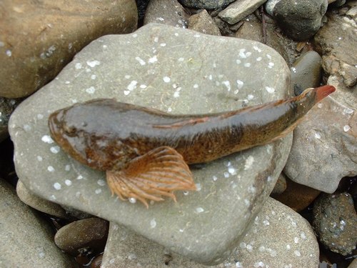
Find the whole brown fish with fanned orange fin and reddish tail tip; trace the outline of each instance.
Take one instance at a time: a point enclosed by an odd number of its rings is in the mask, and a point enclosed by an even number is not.
[[[333,86],[235,111],[169,114],[115,99],[54,111],[49,131],[72,158],[106,172],[112,196],[159,202],[196,190],[189,164],[211,162],[286,136]]]

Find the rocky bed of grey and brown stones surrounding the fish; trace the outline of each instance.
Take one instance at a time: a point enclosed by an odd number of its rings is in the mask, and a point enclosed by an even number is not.
[[[1,267],[356,267],[357,1],[1,9]],[[293,133],[191,167],[197,191],[149,209],[47,126],[89,99],[201,114],[321,84],[336,92]]]

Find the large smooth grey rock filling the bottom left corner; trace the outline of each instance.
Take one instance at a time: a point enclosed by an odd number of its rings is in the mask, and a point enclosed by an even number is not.
[[[0,267],[74,267],[49,225],[0,178]]]

